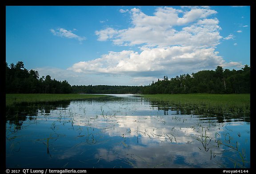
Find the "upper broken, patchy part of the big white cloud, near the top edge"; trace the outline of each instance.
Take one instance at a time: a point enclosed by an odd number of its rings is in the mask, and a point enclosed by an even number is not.
[[[216,14],[210,9],[191,9],[183,12],[170,7],[157,8],[153,16],[149,16],[132,8],[132,27],[115,30],[108,27],[96,31],[99,41],[110,39],[116,45],[140,45],[150,46],[216,46],[221,36],[219,35],[218,19],[206,19]],[[179,17],[179,14],[184,14]],[[192,23],[191,25],[189,25]],[[183,30],[175,27],[184,26]],[[200,39],[200,40],[198,40]],[[203,42],[203,43],[201,43]]]

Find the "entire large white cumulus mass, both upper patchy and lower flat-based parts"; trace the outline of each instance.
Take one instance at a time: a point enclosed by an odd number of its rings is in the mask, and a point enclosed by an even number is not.
[[[156,8],[146,15],[132,8],[131,26],[95,31],[98,41],[117,46],[138,46],[140,51],[109,51],[100,58],[77,62],[69,70],[77,73],[125,74],[134,77],[161,77],[192,73],[225,65],[215,47],[220,43],[217,12],[209,7]],[[120,10],[124,12],[124,10]],[[226,38],[233,39],[230,34]]]

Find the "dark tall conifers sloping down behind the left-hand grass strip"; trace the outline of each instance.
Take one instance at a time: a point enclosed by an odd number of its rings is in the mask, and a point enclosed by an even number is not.
[[[57,81],[51,76],[42,76],[35,70],[28,71],[23,62],[6,62],[5,70],[5,92],[6,93],[72,93],[68,81]]]

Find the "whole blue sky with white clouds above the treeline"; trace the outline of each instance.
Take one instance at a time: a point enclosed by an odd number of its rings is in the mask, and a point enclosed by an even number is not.
[[[250,6],[6,6],[6,62],[70,85],[250,66]]]

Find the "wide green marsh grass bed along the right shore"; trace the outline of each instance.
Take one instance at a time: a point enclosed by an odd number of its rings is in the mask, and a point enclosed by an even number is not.
[[[170,108],[181,114],[211,116],[212,114],[250,116],[250,94],[147,94],[143,97],[161,108]]]

